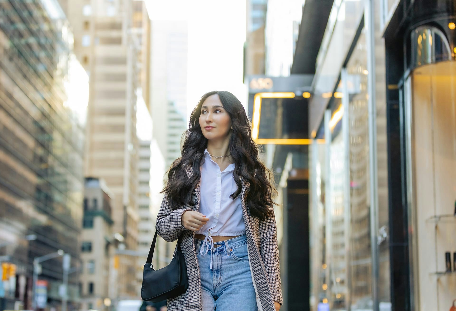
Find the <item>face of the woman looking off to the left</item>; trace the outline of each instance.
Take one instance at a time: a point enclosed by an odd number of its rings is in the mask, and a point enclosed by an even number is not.
[[[229,135],[231,118],[223,108],[218,94],[207,97],[202,103],[199,123],[202,134],[208,140],[224,139]]]

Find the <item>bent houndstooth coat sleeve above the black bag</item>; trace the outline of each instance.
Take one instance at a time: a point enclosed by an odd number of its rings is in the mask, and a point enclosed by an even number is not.
[[[192,209],[171,210],[168,194],[165,194],[155,223],[155,229],[163,240],[173,242],[177,240],[182,231],[187,230],[181,223],[182,214],[187,210]]]

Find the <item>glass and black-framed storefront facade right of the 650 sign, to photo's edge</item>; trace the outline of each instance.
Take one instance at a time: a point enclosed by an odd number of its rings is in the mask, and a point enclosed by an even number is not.
[[[310,103],[311,305],[442,310],[456,292],[455,3],[364,1],[338,35],[350,2],[333,5]],[[350,48],[327,54],[337,45]]]

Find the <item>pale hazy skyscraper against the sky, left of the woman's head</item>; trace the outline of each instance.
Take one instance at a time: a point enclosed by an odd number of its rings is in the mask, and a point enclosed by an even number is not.
[[[150,46],[153,137],[169,168],[181,156],[181,136],[187,129],[187,22],[152,20]]]

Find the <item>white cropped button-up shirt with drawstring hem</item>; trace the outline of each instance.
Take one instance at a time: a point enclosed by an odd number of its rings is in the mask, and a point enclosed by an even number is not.
[[[229,196],[238,189],[234,182],[234,163],[223,172],[215,163],[207,149],[204,150],[205,162],[201,166],[201,201],[199,212],[209,221],[196,233],[206,236],[235,236],[245,234],[241,198]]]

